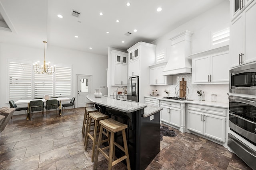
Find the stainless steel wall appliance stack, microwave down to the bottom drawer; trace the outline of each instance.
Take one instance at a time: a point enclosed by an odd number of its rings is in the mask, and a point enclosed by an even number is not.
[[[230,70],[228,147],[256,170],[256,64]]]

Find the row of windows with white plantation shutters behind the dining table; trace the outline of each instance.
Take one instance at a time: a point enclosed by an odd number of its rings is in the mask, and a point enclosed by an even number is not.
[[[54,74],[36,74],[32,61],[8,60],[9,99],[71,96],[71,66],[56,66]]]

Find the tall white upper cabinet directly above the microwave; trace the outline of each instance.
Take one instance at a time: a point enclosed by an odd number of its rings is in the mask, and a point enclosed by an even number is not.
[[[230,27],[231,67],[256,61],[256,1],[244,1],[249,5],[243,7]]]

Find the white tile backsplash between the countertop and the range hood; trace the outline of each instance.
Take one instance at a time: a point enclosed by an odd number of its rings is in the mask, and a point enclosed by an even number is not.
[[[167,97],[164,90],[168,90],[170,97],[176,97],[176,94],[179,94],[179,84],[182,78],[186,81],[186,98],[198,100],[197,90],[202,90],[202,92],[204,91],[206,101],[211,101],[211,95],[216,94],[216,102],[228,103],[228,84],[192,84],[191,74],[174,75],[172,76],[172,85],[154,86],[152,90],[157,90],[157,94],[163,97]]]

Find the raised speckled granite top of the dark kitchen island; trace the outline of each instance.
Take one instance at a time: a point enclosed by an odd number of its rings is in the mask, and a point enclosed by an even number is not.
[[[96,104],[116,109],[118,111],[122,111],[125,113],[131,113],[133,111],[137,111],[147,107],[146,104],[138,102],[129,102],[124,100],[116,100],[112,98],[107,98],[105,96],[102,96],[101,98],[95,98],[93,94],[89,94],[88,96],[86,96],[86,98]]]

